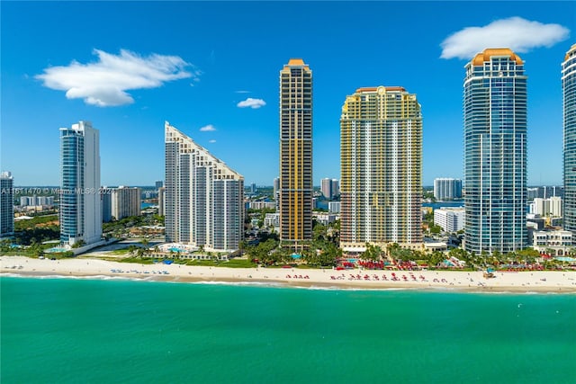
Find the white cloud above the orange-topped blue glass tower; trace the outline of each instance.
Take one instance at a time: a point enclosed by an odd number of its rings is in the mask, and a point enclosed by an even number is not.
[[[521,17],[510,17],[491,22],[483,27],[466,27],[448,36],[440,46],[440,58],[473,58],[487,48],[509,48],[517,53],[538,47],[552,47],[566,40],[570,30],[560,24],[531,22]]]

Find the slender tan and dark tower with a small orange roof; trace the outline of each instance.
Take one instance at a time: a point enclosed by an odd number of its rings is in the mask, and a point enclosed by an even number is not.
[[[291,58],[280,71],[280,239],[312,238],[312,71]]]

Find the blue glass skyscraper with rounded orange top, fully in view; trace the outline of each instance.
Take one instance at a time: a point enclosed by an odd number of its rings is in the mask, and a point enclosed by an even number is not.
[[[527,246],[527,76],[510,49],[484,49],[464,78],[464,246]]]

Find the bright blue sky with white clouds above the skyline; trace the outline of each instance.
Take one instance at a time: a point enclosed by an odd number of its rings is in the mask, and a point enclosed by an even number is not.
[[[377,85],[418,95],[424,185],[461,178],[464,65],[470,52],[495,45],[516,47],[526,61],[528,183],[563,180],[560,71],[576,42],[576,3],[0,6],[0,167],[13,172],[16,185],[58,185],[58,129],[81,120],[100,129],[103,185],[164,178],[164,121],[247,184],[272,185],[278,76],[289,58],[303,58],[313,71],[315,185],[339,178],[347,94]]]

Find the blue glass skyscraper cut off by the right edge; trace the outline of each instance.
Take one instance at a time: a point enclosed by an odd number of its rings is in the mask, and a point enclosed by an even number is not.
[[[576,233],[576,44],[562,63],[564,125],[564,229]]]

